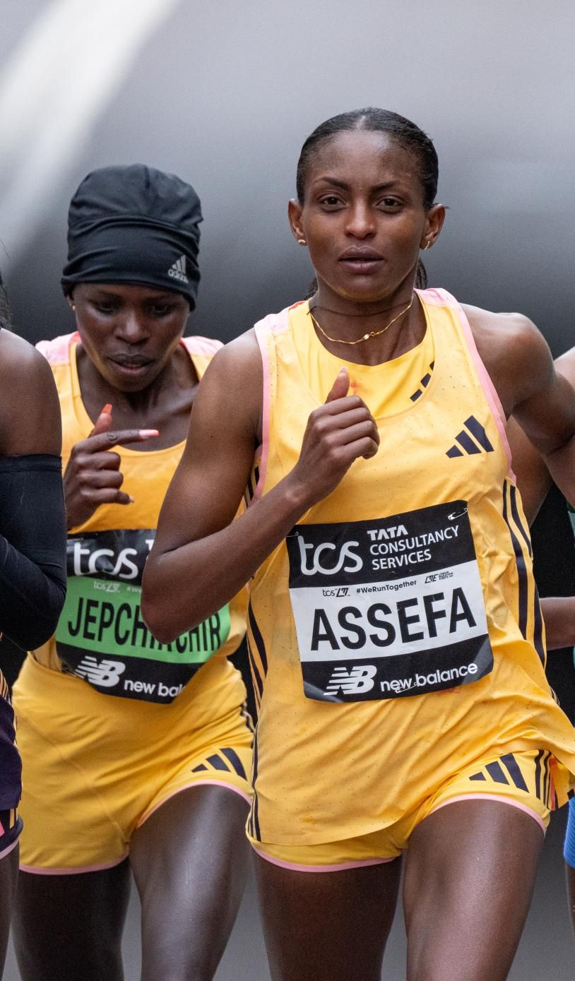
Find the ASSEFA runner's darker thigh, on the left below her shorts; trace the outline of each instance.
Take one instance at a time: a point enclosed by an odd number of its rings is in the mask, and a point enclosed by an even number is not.
[[[380,981],[400,858],[338,872],[254,860],[274,981]]]

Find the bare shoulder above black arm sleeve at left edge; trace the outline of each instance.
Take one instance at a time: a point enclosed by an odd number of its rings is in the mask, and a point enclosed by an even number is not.
[[[0,331],[0,453],[60,453],[62,424],[52,370],[23,337]]]

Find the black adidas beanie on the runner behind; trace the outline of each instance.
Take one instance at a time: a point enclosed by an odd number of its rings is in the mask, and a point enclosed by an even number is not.
[[[68,215],[66,295],[78,283],[126,283],[182,293],[193,310],[200,280],[199,197],[152,167],[103,167],[80,183]]]

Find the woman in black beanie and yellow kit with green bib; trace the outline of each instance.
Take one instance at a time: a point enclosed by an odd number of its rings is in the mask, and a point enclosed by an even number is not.
[[[139,607],[189,409],[220,346],[183,339],[200,221],[189,184],[140,165],[95,171],[71,204],[62,282],[78,331],[40,344],[64,420],[68,599],[15,688],[25,981],[120,981],[130,869],[147,981],[212,978],[241,897],[252,734],[224,656],[243,631],[241,599],[169,645]]]

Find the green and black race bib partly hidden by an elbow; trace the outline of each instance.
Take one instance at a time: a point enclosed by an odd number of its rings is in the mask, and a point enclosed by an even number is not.
[[[228,605],[171,644],[159,644],[140,612],[141,576],[155,530],[68,539],[68,593],[56,648],[68,670],[99,692],[173,701],[230,634]]]

